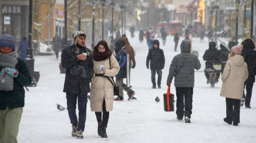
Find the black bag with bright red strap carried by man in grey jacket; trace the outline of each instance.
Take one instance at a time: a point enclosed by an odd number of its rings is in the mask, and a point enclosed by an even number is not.
[[[164,111],[174,111],[174,95],[170,93],[169,86],[167,93],[164,93]]]

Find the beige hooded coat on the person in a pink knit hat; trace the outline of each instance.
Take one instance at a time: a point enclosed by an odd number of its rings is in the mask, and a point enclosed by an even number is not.
[[[220,96],[242,99],[244,82],[247,77],[248,69],[247,64],[244,62],[244,57],[239,54],[229,57],[221,76],[222,87]]]

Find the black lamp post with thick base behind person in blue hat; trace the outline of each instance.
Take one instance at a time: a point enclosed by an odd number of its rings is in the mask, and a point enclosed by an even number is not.
[[[28,21],[28,49],[27,57],[25,62],[28,66],[29,73],[32,78],[32,83],[30,87],[36,87],[36,79],[34,78],[34,58],[32,49],[32,13],[33,13],[33,0],[29,0],[29,21]]]

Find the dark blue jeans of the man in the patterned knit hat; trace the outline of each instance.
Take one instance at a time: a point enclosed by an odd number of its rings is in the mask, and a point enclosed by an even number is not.
[[[73,94],[66,93],[67,98],[67,109],[70,123],[72,126],[77,127],[77,131],[82,130],[84,132],[84,126],[86,121],[86,105],[87,105],[87,94]],[[78,120],[76,117],[76,99],[78,102]]]

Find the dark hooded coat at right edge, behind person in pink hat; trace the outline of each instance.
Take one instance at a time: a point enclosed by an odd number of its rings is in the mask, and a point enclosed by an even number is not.
[[[255,71],[253,70],[253,65],[256,62],[255,45],[251,39],[245,39],[242,45],[244,47],[241,56],[244,57],[244,62],[247,64],[249,74],[246,82],[253,83],[255,82]]]

